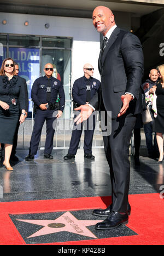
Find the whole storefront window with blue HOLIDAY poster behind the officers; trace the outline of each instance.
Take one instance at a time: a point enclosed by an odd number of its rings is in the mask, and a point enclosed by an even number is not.
[[[40,47],[40,40],[42,40],[42,47]],[[8,44],[9,47],[7,48]],[[52,49],[48,49],[49,47]],[[44,75],[44,65],[48,62],[54,65],[53,76],[62,82],[65,90],[66,105],[63,118],[71,118],[71,47],[71,37],[52,38],[0,34],[0,65],[3,59],[12,58],[19,65],[19,75],[25,78],[27,82],[28,118],[32,116],[31,89],[33,82]],[[41,59],[40,55],[42,55]]]

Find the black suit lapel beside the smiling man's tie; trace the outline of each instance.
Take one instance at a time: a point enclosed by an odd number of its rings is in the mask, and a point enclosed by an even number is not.
[[[112,44],[115,42],[116,38],[118,37],[119,32],[120,32],[120,29],[118,27],[116,27],[116,29],[112,32],[112,35],[110,36],[110,38],[108,40],[108,43],[106,45],[106,48],[104,49],[102,57],[100,55],[102,53],[102,49],[101,49],[101,52],[99,54],[99,60],[98,60],[98,64],[100,64],[100,62],[101,62],[101,65],[100,65],[101,66],[101,70],[102,70],[102,66],[104,64],[104,60],[106,59],[106,55],[108,53],[108,50],[110,49]]]

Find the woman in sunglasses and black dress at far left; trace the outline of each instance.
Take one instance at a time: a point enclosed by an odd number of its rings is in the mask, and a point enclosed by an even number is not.
[[[14,60],[3,60],[0,70],[0,149],[1,143],[5,146],[4,166],[7,170],[13,170],[10,166],[10,155],[13,147],[14,133],[17,122],[25,121],[25,92],[21,87],[21,78],[15,76]]]

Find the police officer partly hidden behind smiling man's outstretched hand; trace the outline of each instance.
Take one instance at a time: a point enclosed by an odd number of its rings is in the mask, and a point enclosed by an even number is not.
[[[98,92],[100,85],[100,82],[92,77],[94,69],[91,64],[85,64],[83,70],[84,76],[75,80],[72,88],[73,101],[77,104],[77,106],[89,103],[93,95]],[[90,122],[91,118],[92,121]],[[89,159],[95,159],[95,156],[92,155],[92,140],[95,130],[95,122],[95,116],[91,116],[85,123],[87,127],[85,127],[84,132],[84,157]],[[92,124],[92,129],[90,129],[89,123]],[[81,133],[83,130],[83,123],[78,124],[78,126],[77,128],[75,126],[73,128],[69,150],[67,155],[64,156],[65,160],[74,158],[77,153]]]

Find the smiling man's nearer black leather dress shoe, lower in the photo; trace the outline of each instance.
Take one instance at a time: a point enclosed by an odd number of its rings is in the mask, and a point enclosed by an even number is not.
[[[107,219],[100,223],[97,223],[95,229],[106,230],[106,229],[116,229],[122,224],[128,223],[127,213],[111,212]]]

